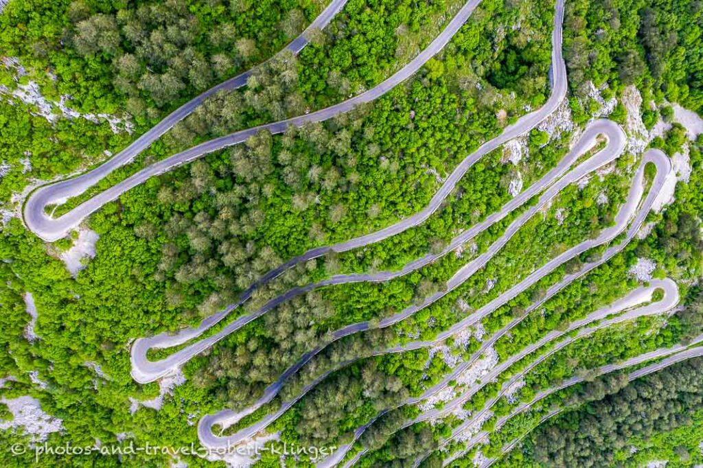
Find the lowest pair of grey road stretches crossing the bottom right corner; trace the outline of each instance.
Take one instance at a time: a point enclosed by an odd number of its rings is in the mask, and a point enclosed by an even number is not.
[[[636,356],[634,358],[625,360],[621,363],[617,364],[610,364],[610,365],[605,365],[602,368],[598,368],[598,375],[605,375],[609,372],[614,372],[616,370],[621,370],[624,368],[631,367],[633,365],[639,365],[641,363],[645,363],[647,360],[652,360],[652,359],[657,359],[657,358],[664,358],[661,361],[657,363],[652,363],[650,365],[647,365],[641,369],[635,370],[633,372],[630,372],[628,374],[628,380],[632,382],[635,379],[638,379],[640,377],[644,377],[645,375],[650,375],[654,372],[659,372],[659,370],[662,370],[664,368],[669,367],[669,365],[673,365],[676,363],[680,363],[683,360],[688,360],[691,358],[699,358],[703,356],[703,346],[698,346],[698,347],[693,347],[696,346],[697,344],[700,344],[703,342],[703,335],[699,335],[697,338],[695,338],[691,344],[689,345],[681,345],[678,344],[676,346],[673,346],[672,348],[668,349],[657,349],[655,351],[651,351],[650,353],[644,353],[641,354],[640,356]],[[668,357],[667,357],[668,356]],[[572,386],[574,384],[578,384],[580,382],[583,382],[583,378],[581,377],[572,377],[571,379],[568,379],[567,381],[563,382],[559,386],[546,389],[541,391],[535,398],[533,398],[529,403],[524,403],[520,405],[519,407],[515,408],[512,412],[510,412],[509,415],[501,417],[497,422],[496,422],[496,429],[500,429],[503,427],[505,422],[508,422],[510,418],[514,417],[515,415],[520,414],[521,412],[527,411],[531,408],[532,405],[537,403],[543,398],[546,398],[546,396],[549,396],[550,394],[553,394],[555,391],[559,391],[561,389],[565,389],[568,386]],[[553,417],[560,412],[562,412],[565,408],[560,408],[557,410],[553,410],[549,412],[547,415],[543,416],[541,420],[538,422],[539,425],[542,422],[548,420],[550,417]],[[516,438],[514,441],[508,443],[503,449],[501,450],[501,455],[505,455],[505,453],[508,453],[518,442],[524,438],[524,436],[527,436],[529,434],[529,431],[519,438]],[[451,462],[454,460],[457,460],[460,457],[463,457],[466,455],[473,446],[475,446],[477,443],[484,441],[490,433],[488,431],[481,431],[479,434],[476,436],[472,437],[470,441],[467,442],[467,448],[465,450],[462,450],[455,455],[452,455],[449,459],[444,461],[443,466],[449,465]],[[487,468],[490,467],[491,464],[494,464],[497,459],[490,459],[486,460],[483,464],[480,466],[482,468]]]

